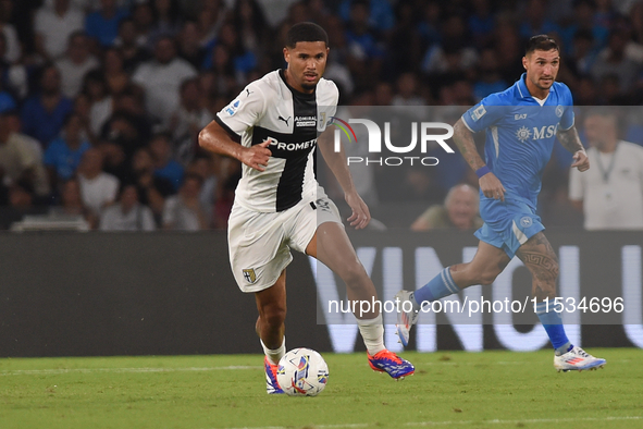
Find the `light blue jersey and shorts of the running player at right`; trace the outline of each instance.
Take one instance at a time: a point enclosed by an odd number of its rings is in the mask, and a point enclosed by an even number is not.
[[[514,257],[518,247],[544,230],[535,213],[542,174],[558,131],[573,126],[573,101],[567,85],[555,82],[545,100],[527,89],[527,74],[511,87],[485,97],[463,115],[474,133],[486,131],[486,164],[505,189],[505,203],[480,193],[485,224],[480,240]]]

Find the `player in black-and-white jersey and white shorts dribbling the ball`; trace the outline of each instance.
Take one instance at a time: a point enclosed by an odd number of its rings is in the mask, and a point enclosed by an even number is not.
[[[333,82],[321,77],[327,42],[319,25],[294,25],[284,48],[287,68],[250,83],[199,135],[205,149],[243,162],[228,221],[230,259],[240,290],[256,296],[268,393],[283,393],[276,369],[286,351],[290,249],[313,256],[336,272],[347,284],[349,301],[376,299],[337,208],[314,176],[313,152],[319,143],[353,209],[348,222],[357,229],[369,223],[369,209],[355,191],[343,154],[334,152],[329,137],[338,91]],[[380,312],[358,318],[358,326],[372,369],[395,379],[413,373],[409,361],[384,347]]]

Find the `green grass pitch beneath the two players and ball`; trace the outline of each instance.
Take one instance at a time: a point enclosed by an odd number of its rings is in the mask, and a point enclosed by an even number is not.
[[[643,351],[590,350],[596,371],[553,353],[405,353],[396,382],[364,354],[324,354],[317,397],[267,395],[262,357],[0,359],[1,429],[643,428]]]

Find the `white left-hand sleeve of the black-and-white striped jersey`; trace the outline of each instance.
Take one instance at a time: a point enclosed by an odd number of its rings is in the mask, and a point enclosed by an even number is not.
[[[246,86],[230,105],[221,109],[214,121],[228,133],[242,135],[263,117],[267,105],[265,95],[254,82]]]

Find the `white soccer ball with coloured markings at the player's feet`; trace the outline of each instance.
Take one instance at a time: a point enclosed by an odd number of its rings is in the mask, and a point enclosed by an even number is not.
[[[329,366],[316,351],[294,348],[280,359],[276,381],[289,396],[317,396],[329,381]]]

